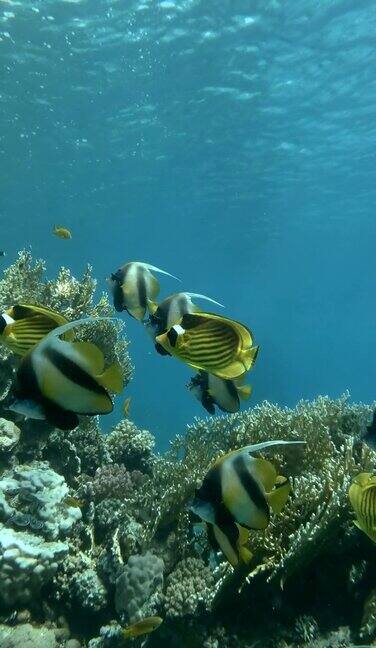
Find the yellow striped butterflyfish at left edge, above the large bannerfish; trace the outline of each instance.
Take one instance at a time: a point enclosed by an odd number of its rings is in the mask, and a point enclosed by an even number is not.
[[[15,304],[0,316],[0,342],[14,353],[25,355],[50,331],[67,321],[46,306]]]

